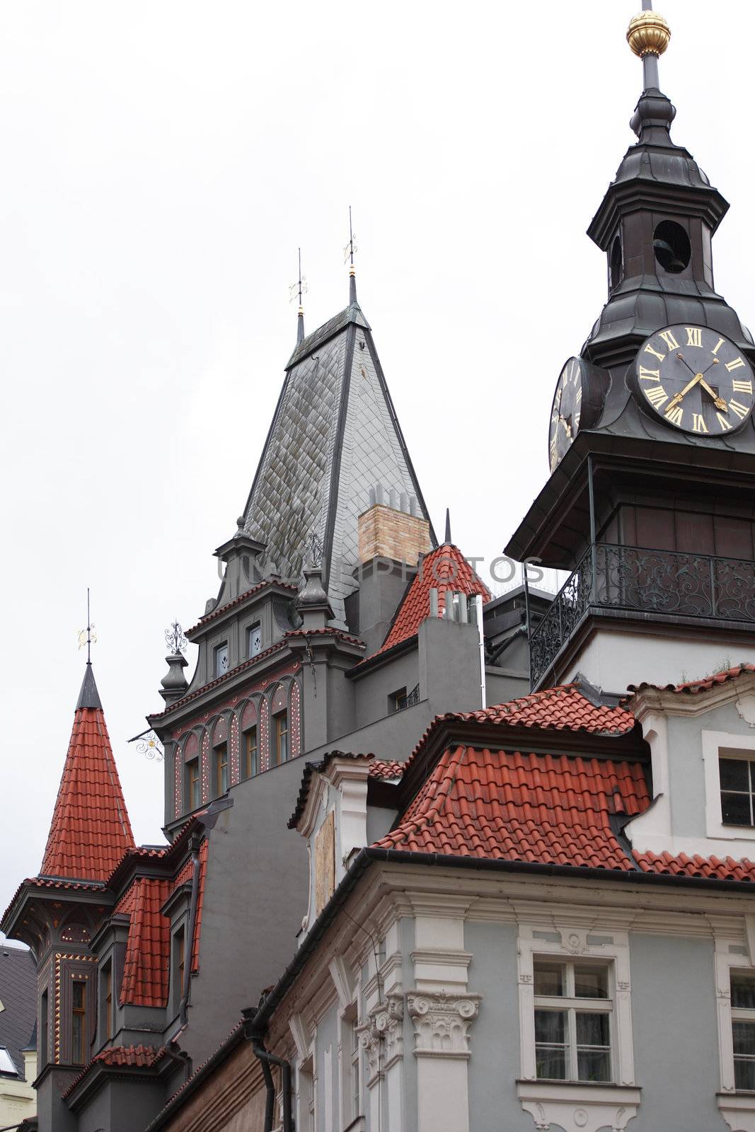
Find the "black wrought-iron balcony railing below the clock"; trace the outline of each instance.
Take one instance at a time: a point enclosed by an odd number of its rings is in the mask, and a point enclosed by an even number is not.
[[[755,561],[598,542],[530,633],[537,687],[589,610],[755,624]]]

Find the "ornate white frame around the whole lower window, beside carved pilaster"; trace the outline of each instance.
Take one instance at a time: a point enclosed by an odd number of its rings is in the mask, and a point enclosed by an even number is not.
[[[521,1078],[516,1082],[516,1092],[522,1108],[531,1114],[538,1127],[556,1124],[565,1132],[598,1132],[608,1125],[615,1132],[624,1132],[636,1116],[641,1100],[634,1075],[628,933],[612,927],[602,928],[594,921],[585,927],[584,919],[576,924],[568,920],[520,924],[517,952]],[[538,1078],[534,1047],[535,958],[585,960],[609,967],[612,1000],[597,998],[594,1002],[612,1002],[612,1081]]]

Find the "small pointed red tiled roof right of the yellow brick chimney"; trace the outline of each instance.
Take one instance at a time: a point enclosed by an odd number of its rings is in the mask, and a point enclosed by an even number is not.
[[[490,591],[478,577],[458,547],[444,543],[420,563],[420,569],[402,601],[388,635],[378,653],[393,649],[419,632],[419,627],[430,616],[430,590],[438,591],[438,616],[443,617],[446,593],[479,593],[483,601],[490,601]],[[375,654],[377,655],[377,653]]]

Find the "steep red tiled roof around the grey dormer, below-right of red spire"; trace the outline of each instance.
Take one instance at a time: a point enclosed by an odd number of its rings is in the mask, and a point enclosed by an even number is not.
[[[199,967],[206,868],[207,842],[203,841],[199,848],[199,891],[191,951],[192,972]],[[132,1003],[137,1006],[165,1005],[170,967],[170,921],[160,909],[171,893],[189,880],[191,880],[190,860],[173,882],[162,877],[137,876],[115,904],[115,914],[120,912],[130,918],[120,992],[121,1003]]]

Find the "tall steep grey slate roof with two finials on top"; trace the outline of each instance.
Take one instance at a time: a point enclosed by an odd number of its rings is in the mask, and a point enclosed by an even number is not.
[[[243,511],[243,530],[295,578],[312,537],[335,618],[354,590],[358,518],[376,483],[429,518],[367,319],[354,300],[293,352]],[[435,540],[434,540],[435,542]]]

